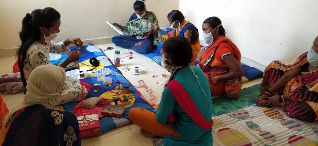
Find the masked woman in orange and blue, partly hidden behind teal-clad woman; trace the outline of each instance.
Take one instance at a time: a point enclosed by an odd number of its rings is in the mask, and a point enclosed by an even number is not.
[[[191,61],[193,61],[201,50],[198,29],[190,21],[185,21],[185,17],[179,10],[172,10],[168,13],[167,18],[172,28],[170,37],[180,36],[187,38],[192,47]]]

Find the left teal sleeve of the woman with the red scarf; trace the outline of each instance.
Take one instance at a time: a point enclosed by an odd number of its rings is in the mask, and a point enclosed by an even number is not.
[[[157,110],[157,121],[160,124],[167,123],[168,117],[170,113],[172,112],[174,105],[175,105],[175,99],[170,92],[169,88],[165,87],[162,93],[161,101],[159,108]]]

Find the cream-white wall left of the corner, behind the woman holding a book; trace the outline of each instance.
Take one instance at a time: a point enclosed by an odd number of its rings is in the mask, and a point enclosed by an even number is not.
[[[50,6],[61,13],[61,32],[56,41],[69,37],[82,40],[117,35],[105,22],[127,23],[135,0],[1,0],[0,49],[20,45],[18,32],[27,12]],[[159,25],[166,26],[166,15],[178,9],[179,0],[147,0],[146,8],[155,12]]]

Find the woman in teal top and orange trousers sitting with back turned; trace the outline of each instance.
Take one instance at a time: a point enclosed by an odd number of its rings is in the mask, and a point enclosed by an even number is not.
[[[143,135],[163,137],[164,146],[212,146],[210,88],[202,70],[190,66],[190,42],[184,37],[169,38],[161,50],[163,64],[172,75],[157,113],[133,108],[129,119],[142,128]]]

